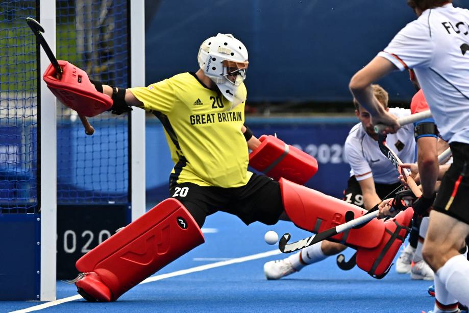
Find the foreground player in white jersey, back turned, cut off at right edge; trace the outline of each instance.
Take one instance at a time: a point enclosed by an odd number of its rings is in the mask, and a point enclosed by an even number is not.
[[[413,68],[440,135],[450,143],[453,164],[441,182],[430,213],[423,255],[435,271],[434,312],[456,312],[469,303],[469,262],[460,254],[469,234],[469,11],[451,1],[408,0],[418,18],[404,27],[370,63],[350,89],[374,123],[395,132],[396,117],[383,110],[371,83],[391,71]],[[382,205],[382,214],[392,214]]]

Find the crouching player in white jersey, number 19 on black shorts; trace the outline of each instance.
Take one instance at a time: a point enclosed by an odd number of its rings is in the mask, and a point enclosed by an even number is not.
[[[379,85],[373,85],[373,92],[380,104],[388,109],[388,93]],[[378,135],[373,129],[369,113],[355,100],[355,114],[360,123],[355,125],[345,140],[344,154],[350,166],[350,179],[343,192],[343,200],[366,210],[381,202],[381,198],[398,188],[401,183],[396,167],[380,151]],[[410,115],[410,110],[390,108],[397,117]],[[394,148],[401,160],[415,159],[414,129],[408,125],[396,134],[386,138],[389,147]],[[267,279],[280,279],[300,271],[309,264],[322,261],[328,256],[342,252],[347,247],[328,240],[304,248],[285,259],[268,261],[264,264]]]

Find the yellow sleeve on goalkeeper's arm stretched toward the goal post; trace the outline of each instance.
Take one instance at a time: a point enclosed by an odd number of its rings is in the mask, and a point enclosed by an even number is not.
[[[168,79],[151,84],[148,87],[130,88],[132,94],[143,102],[143,108],[163,114],[171,112],[176,100],[176,94]]]

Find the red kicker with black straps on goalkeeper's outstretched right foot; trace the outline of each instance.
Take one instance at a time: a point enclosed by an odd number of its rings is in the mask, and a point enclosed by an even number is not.
[[[394,257],[410,231],[413,213],[413,209],[409,207],[384,222],[386,232],[379,246],[357,249],[357,266],[375,278],[383,278],[389,272]]]

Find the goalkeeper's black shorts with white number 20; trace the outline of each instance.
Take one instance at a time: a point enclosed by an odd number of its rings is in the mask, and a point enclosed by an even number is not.
[[[172,198],[184,204],[200,227],[206,216],[217,211],[234,214],[246,225],[256,221],[273,225],[284,210],[279,182],[264,175],[253,174],[247,184],[236,188],[182,183],[169,191]]]

